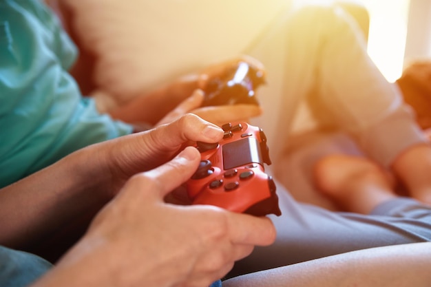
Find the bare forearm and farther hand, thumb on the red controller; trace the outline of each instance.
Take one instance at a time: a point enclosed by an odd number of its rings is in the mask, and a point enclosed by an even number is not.
[[[20,248],[111,200],[135,173],[170,160],[189,140],[222,130],[197,116],[76,151],[0,192],[0,243]]]

